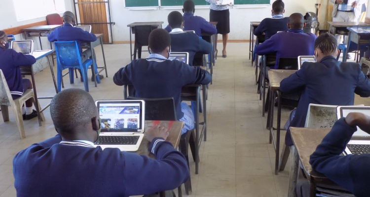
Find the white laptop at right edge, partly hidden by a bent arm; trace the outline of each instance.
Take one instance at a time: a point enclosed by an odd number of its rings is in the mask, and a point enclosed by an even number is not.
[[[360,112],[370,116],[370,106],[338,106],[336,108],[337,118],[346,117],[350,112]],[[370,134],[357,127],[351,140],[348,142],[344,155],[370,153]]]

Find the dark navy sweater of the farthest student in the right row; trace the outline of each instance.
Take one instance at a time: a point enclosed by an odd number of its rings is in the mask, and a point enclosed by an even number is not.
[[[282,18],[265,18],[255,29],[255,35],[265,34],[266,38],[270,38],[277,32],[289,31],[288,29],[289,17]]]

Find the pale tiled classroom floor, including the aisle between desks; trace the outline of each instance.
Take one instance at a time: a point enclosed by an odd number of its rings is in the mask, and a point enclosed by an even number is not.
[[[274,148],[268,143],[268,131],[265,129],[267,114],[264,118],[261,116],[262,101],[257,95],[254,67],[248,60],[248,45],[229,43],[227,58],[222,58],[222,46],[219,44],[220,55],[214,67],[213,84],[208,90],[208,138],[200,148],[199,174],[195,174],[195,163],[190,163],[191,196],[287,196],[289,164],[285,171],[274,174]],[[122,87],[114,85],[112,77],[120,67],[130,62],[129,45],[104,45],[104,49],[109,77],[104,78],[98,87],[89,81],[90,94],[95,100],[123,99]],[[99,47],[96,54],[98,65],[102,65]],[[143,57],[147,55],[143,52]],[[83,89],[79,79],[74,84],[69,84],[68,80],[67,76],[65,89]],[[36,84],[38,96],[55,95],[49,68],[36,74]],[[41,106],[48,102],[50,99],[40,100]],[[355,104],[370,105],[370,100],[356,97]],[[56,134],[47,109],[44,112],[46,121],[41,127],[38,127],[36,118],[24,122],[26,138],[21,140],[10,108],[9,113],[9,122],[4,123],[0,117],[0,197],[16,196],[12,173],[14,155]],[[282,124],[289,113],[289,110],[283,109]],[[282,132],[282,143],[284,136],[285,132]]]

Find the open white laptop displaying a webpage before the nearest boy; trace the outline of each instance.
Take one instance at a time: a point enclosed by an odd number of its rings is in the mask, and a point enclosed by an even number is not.
[[[97,100],[101,128],[95,147],[137,151],[145,131],[144,100]]]

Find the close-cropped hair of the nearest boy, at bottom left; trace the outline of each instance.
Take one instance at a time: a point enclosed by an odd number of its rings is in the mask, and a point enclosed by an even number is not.
[[[50,115],[55,129],[63,136],[76,129],[84,129],[97,116],[97,107],[91,95],[71,88],[59,92],[50,103]]]

